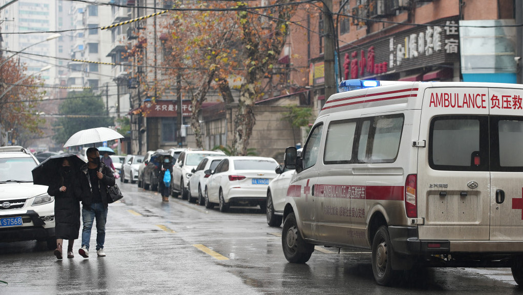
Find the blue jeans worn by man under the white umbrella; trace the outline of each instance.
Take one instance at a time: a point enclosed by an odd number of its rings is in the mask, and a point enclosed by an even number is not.
[[[82,246],[89,251],[91,240],[91,229],[96,218],[96,249],[103,249],[105,242],[105,223],[107,222],[107,207],[103,203],[92,203],[89,207],[82,207],[82,219],[84,228],[82,230]]]

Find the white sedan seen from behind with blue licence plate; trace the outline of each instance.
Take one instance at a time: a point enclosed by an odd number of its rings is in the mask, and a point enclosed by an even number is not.
[[[267,187],[276,177],[278,162],[269,157],[229,156],[224,158],[207,179],[205,207],[220,205],[226,212],[229,206],[260,206],[265,213],[267,208]]]

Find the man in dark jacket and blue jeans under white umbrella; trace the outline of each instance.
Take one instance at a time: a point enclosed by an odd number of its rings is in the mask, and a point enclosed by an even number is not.
[[[96,219],[96,253],[105,256],[105,223],[107,221],[107,186],[115,185],[115,177],[111,169],[100,162],[100,153],[96,147],[89,147],[86,152],[86,165],[81,167],[82,196],[82,248],[78,253],[84,258],[89,257],[89,242],[93,221]]]

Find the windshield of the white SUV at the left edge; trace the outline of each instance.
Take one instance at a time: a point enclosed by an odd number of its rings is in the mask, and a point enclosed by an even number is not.
[[[36,162],[27,158],[0,158],[0,181],[29,181],[32,182],[31,170]]]

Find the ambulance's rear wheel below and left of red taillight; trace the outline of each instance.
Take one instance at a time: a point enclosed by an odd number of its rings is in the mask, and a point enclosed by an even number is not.
[[[389,231],[382,225],[372,242],[372,272],[379,285],[390,286],[400,277],[400,271],[392,269],[392,243]]]

